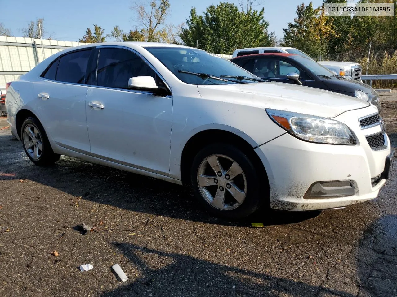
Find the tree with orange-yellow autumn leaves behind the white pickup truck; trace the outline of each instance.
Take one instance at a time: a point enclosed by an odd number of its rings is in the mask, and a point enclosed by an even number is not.
[[[327,23],[324,10],[313,8],[313,3],[308,6],[304,3],[297,6],[297,17],[294,23],[288,23],[284,31],[284,46],[291,46],[306,52],[316,58],[327,53],[328,40],[335,34],[332,26]]]

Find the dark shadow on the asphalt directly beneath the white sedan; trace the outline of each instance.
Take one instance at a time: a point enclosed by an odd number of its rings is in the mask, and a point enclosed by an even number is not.
[[[239,222],[213,217],[200,208],[190,187],[174,185],[151,177],[112,169],[62,156],[50,167],[35,166],[25,155],[22,144],[12,136],[0,136],[0,180],[30,179],[83,199],[130,211],[177,219],[230,226],[297,223],[320,212],[258,211]],[[8,153],[7,150],[12,150]]]

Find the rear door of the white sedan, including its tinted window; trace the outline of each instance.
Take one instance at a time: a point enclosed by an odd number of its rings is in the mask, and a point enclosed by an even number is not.
[[[92,49],[73,51],[56,59],[35,83],[40,120],[61,147],[89,154],[85,116],[85,73]]]

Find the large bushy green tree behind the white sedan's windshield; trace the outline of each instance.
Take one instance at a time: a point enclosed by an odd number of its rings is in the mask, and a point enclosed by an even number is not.
[[[268,26],[263,8],[242,12],[234,4],[222,2],[208,6],[203,16],[192,8],[180,36],[188,46],[195,46],[198,40],[201,49],[229,54],[236,48],[271,46],[276,36],[268,33]]]

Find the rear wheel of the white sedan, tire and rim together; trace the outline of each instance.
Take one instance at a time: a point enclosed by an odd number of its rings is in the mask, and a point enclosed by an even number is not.
[[[21,128],[23,149],[29,159],[38,166],[48,166],[59,160],[54,153],[43,126],[36,118],[26,118]]]

